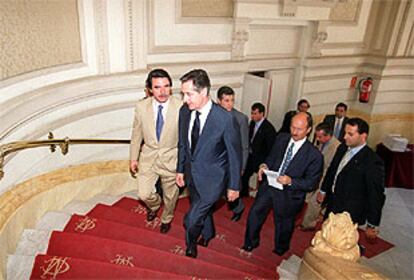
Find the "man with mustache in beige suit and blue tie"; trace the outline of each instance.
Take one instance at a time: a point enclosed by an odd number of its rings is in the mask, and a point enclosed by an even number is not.
[[[161,233],[167,233],[178,199],[175,184],[178,113],[183,102],[171,95],[172,80],[163,69],[154,69],[146,81],[149,97],[138,101],[132,128],[130,172],[138,181],[138,198],[147,206],[147,221],[157,216],[161,201]],[[135,176],[137,175],[137,176]],[[161,180],[163,197],[155,184]]]

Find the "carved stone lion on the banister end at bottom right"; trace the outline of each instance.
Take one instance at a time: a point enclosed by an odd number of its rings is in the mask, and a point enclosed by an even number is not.
[[[303,255],[298,279],[387,279],[358,262],[357,227],[349,213],[330,213]]]

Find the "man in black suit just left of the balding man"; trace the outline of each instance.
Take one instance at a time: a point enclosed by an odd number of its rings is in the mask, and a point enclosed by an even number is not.
[[[241,196],[249,194],[250,177],[259,170],[259,165],[264,162],[272,149],[275,137],[276,130],[274,126],[265,118],[265,106],[262,103],[254,103],[249,125],[249,156],[242,176]],[[240,219],[241,214],[240,212],[233,217],[233,220]]]

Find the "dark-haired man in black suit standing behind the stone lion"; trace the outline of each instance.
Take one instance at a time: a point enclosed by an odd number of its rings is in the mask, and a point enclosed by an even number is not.
[[[367,223],[366,236],[375,240],[385,202],[385,174],[384,163],[366,144],[368,132],[364,120],[348,120],[345,143],[338,147],[317,199],[321,203],[326,196],[325,217],[347,211],[354,223]]]

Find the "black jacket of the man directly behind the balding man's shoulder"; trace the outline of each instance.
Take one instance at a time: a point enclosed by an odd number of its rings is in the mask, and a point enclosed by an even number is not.
[[[250,121],[249,142],[251,153],[249,154],[248,164],[251,168],[257,171],[259,169],[259,165],[264,162],[265,158],[272,149],[276,138],[276,130],[267,119],[264,119],[253,138],[253,142],[251,142],[254,126],[255,122]]]

